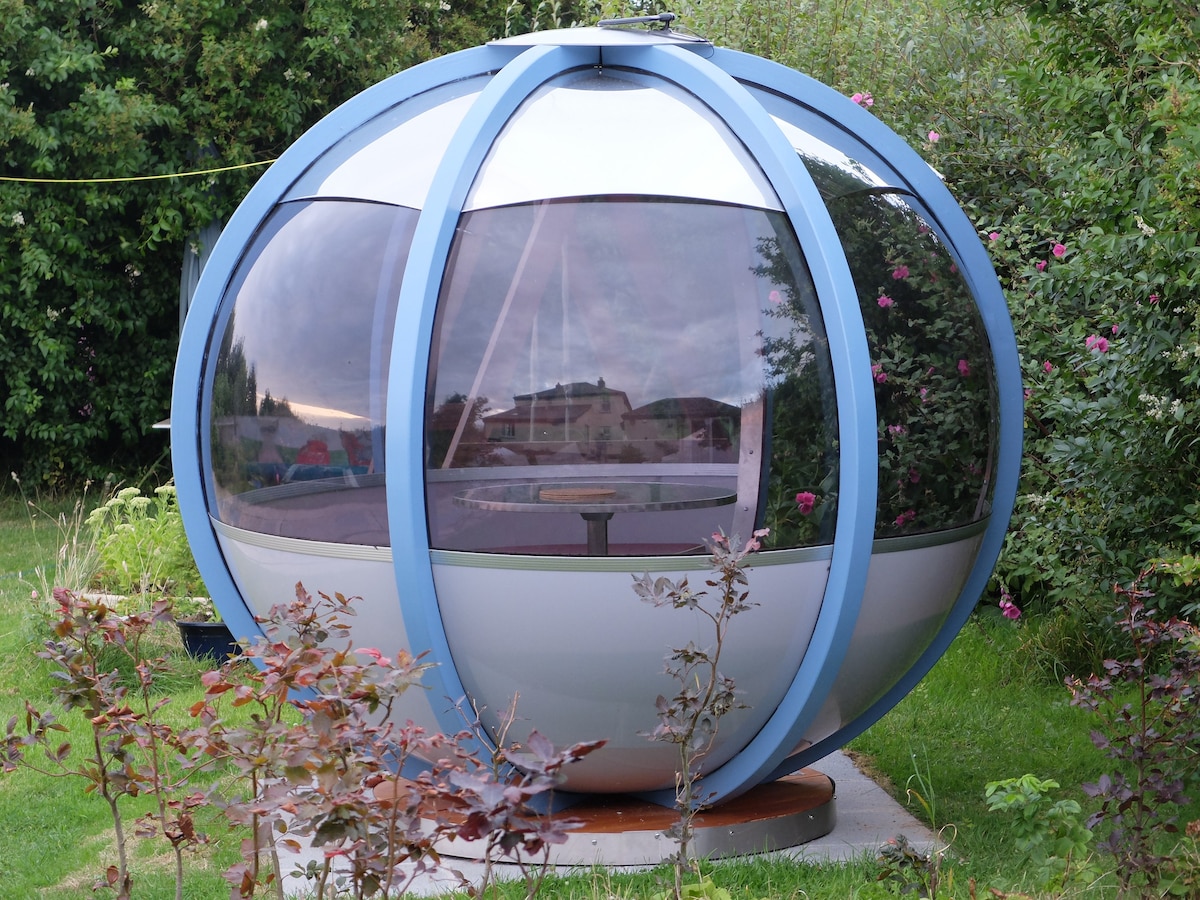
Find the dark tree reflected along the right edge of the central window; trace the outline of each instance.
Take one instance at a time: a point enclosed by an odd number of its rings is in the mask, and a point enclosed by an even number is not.
[[[760,239],[758,253],[764,262],[755,275],[776,286],[763,310],[769,469],[762,523],[770,529],[775,548],[824,544],[833,539],[838,505],[838,424],[829,344],[794,240]]]

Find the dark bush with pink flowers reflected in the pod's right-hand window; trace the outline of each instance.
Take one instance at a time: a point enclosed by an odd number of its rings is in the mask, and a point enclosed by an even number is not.
[[[828,205],[866,325],[878,414],[876,533],[926,532],[984,514],[994,432],[983,323],[946,247],[895,193]]]

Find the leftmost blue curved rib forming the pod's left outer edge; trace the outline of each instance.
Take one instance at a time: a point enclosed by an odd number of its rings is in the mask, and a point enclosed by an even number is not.
[[[170,398],[170,457],[184,530],[204,583],[233,634],[240,638],[262,635],[234,583],[209,521],[204,456],[209,436],[209,391],[204,390],[204,362],[233,272],[254,234],[308,166],[340,138],[383,110],[446,82],[484,74],[511,59],[511,48],[478,47],[443,56],[388,78],[362,91],[305,132],[246,194],[230,217],[200,274],[192,306],[179,341]],[[280,598],[286,600],[287,598]]]

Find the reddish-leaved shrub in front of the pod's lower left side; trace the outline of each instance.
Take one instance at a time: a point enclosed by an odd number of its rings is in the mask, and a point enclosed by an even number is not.
[[[500,778],[494,760],[481,762],[470,751],[473,733],[426,733],[412,720],[391,721],[397,700],[420,686],[427,664],[406,650],[385,656],[355,649],[348,626],[355,600],[313,598],[296,584],[295,599],[264,618],[265,637],[245,650],[260,668],[226,666],[204,676],[205,697],[192,708],[198,727],[185,740],[199,758],[227,762],[240,776],[235,792],[212,796],[230,822],[251,833],[245,862],[226,875],[233,895],[268,887],[282,898],[276,848],[299,850],[298,836],[324,851],[301,872],[318,900],[403,893],[437,865],[442,839],[484,841],[488,864],[544,863],[572,822],[539,815],[530,802],[604,742],[558,750],[534,732],[521,748],[498,748],[510,767]],[[226,703],[250,715],[229,715]],[[289,715],[293,708],[299,718]],[[437,763],[415,779],[402,778],[416,757]],[[538,883],[534,875],[530,895]]]

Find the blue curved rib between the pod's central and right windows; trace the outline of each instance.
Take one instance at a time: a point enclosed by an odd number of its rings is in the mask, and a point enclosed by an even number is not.
[[[858,620],[878,481],[866,329],[850,265],[824,203],[791,144],[749,91],[712,62],[676,47],[607,47],[604,56],[606,65],[638,68],[676,82],[708,104],[746,145],[796,229],[824,317],[834,368],[841,446],[838,522],[821,612],[809,649],[770,719],[733,758],[704,775],[706,796],[719,803],[761,784],[792,752],[828,697]],[[667,806],[676,799],[673,791],[644,796]]]

